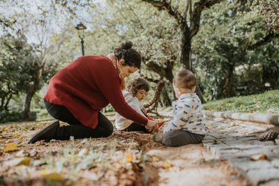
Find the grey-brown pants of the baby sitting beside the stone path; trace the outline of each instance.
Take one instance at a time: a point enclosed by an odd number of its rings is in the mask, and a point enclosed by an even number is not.
[[[199,144],[204,139],[204,135],[193,134],[183,130],[170,130],[165,132],[162,144],[165,146],[184,146],[187,144]]]

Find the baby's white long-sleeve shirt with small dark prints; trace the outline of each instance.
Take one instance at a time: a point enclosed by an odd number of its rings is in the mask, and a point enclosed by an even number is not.
[[[183,93],[178,100],[172,102],[172,106],[172,121],[165,127],[164,133],[169,130],[186,130],[195,134],[206,134],[204,109],[195,93]]]

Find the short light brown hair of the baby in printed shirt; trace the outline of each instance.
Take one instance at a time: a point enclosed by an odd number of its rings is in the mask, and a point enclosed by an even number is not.
[[[173,82],[177,88],[188,88],[192,90],[195,86],[197,86],[196,77],[190,70],[181,70],[174,77]]]

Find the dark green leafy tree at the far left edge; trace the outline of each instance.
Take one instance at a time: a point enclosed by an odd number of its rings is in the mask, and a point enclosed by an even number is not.
[[[27,63],[32,58],[32,47],[26,38],[17,38],[7,34],[0,42],[0,111],[8,111],[8,104],[13,96],[26,90],[29,80]]]

